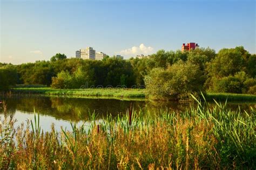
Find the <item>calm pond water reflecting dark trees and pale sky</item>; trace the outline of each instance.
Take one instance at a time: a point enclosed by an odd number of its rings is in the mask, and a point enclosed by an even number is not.
[[[40,115],[40,125],[44,131],[50,130],[50,125],[54,123],[56,129],[60,126],[70,129],[70,121],[81,123],[82,120],[89,119],[89,112],[95,111],[98,117],[104,117],[107,114],[116,116],[125,114],[132,104],[136,111],[147,111],[159,113],[159,110],[182,111],[190,107],[191,103],[178,102],[156,102],[156,101],[127,101],[102,98],[66,98],[66,97],[46,97],[46,96],[12,96],[1,97],[7,104],[9,114],[14,114],[17,119],[16,125],[22,122],[33,120],[34,108]],[[238,109],[250,110],[250,107],[256,109],[256,102],[251,103],[228,103],[232,110]],[[0,104],[0,117],[3,118],[3,105]]]

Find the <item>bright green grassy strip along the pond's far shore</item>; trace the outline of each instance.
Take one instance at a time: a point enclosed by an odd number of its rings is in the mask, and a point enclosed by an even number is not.
[[[122,98],[146,98],[145,89],[53,89],[50,87],[43,88],[12,88],[12,94],[42,94],[68,97],[112,97]],[[256,101],[256,95],[232,94],[232,93],[207,93],[207,100],[217,101]]]

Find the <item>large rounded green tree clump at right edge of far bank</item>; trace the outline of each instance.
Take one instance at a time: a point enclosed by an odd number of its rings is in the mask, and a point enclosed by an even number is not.
[[[215,59],[207,63],[205,86],[214,92],[249,93],[256,82],[254,55],[244,47],[221,49]]]

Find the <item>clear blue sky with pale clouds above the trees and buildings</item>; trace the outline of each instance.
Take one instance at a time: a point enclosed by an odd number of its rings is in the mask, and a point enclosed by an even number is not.
[[[70,58],[87,46],[129,58],[186,42],[255,53],[255,18],[254,0],[1,1],[0,62]]]

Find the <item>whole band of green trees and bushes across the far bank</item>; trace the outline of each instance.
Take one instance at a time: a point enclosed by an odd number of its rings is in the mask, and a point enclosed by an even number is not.
[[[15,84],[53,88],[145,85],[151,98],[187,98],[190,93],[206,90],[256,94],[256,55],[244,47],[223,48],[218,53],[211,48],[190,52],[160,50],[149,58],[129,60],[67,59],[64,54],[56,54],[50,61],[0,63],[0,68],[1,89]]]

